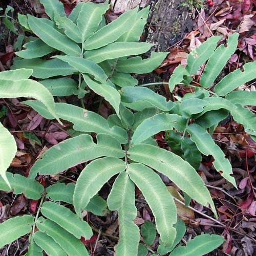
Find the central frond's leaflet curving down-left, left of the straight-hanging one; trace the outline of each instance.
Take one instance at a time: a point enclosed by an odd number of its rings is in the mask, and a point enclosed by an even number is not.
[[[105,138],[104,138],[105,139]],[[74,191],[74,207],[80,216],[90,199],[114,175],[125,170],[125,162],[115,157],[104,157],[92,161],[81,172]]]

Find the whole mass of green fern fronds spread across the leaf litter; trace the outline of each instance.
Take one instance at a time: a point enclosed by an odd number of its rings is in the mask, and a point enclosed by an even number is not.
[[[218,172],[236,186],[230,176],[232,172],[229,161],[206,129],[213,131],[218,122],[231,113],[253,136],[255,116],[242,106],[254,104],[253,92],[248,95],[246,92],[244,98],[245,92],[241,94],[231,91],[255,78],[252,72],[255,62],[246,64],[244,72],[234,71],[223,78],[215,86],[213,93],[208,87],[214,84],[236,49],[238,35],[231,35],[227,47],[221,45],[216,50],[220,37],[211,37],[189,54],[187,66],[179,66],[169,80],[171,91],[176,84],[191,86],[190,76],[209,59],[201,76],[202,87],[195,88],[194,93],[186,94],[176,102],[166,101],[163,96],[146,87],[135,86],[137,81],[130,75],[153,70],[166,53],[152,53],[150,59],[144,60],[141,57],[126,58],[131,54],[144,53],[152,46],[134,42],[139,40],[147,9],[139,12],[134,9],[127,12],[129,14],[124,13],[105,26],[102,15],[108,9],[107,5],[80,3],[66,17],[60,2],[41,0],[41,3],[52,21],[29,15],[20,16],[20,23],[39,38],[31,39],[25,46],[27,49],[17,53],[24,58],[14,62],[13,69],[19,69],[0,73],[0,96],[34,97],[37,101],[27,100],[24,103],[47,119],[57,118],[73,123],[73,129],[79,131],[80,135],[74,135],[47,150],[32,166],[29,178],[25,178],[5,172],[16,149],[14,140],[10,139],[8,143],[12,149],[12,157],[7,155],[2,145],[7,145],[6,139],[12,137],[1,127],[1,189],[13,190],[16,194],[24,193],[31,199],[41,198],[41,203],[35,219],[25,215],[0,224],[1,233],[6,234],[0,246],[31,232],[27,255],[41,255],[42,250],[49,255],[87,255],[88,252],[79,239],[90,238],[92,230],[82,220],[82,211],[86,209],[101,215],[107,211],[108,205],[110,210],[118,212],[119,242],[115,247],[116,255],[137,255],[143,245],[139,244],[139,228],[134,223],[137,215],[136,185],[155,217],[156,229],[160,235],[159,254],[172,251],[184,233],[180,235],[173,197],[156,171],[172,180],[184,195],[206,207],[210,206],[217,216],[209,191],[196,169],[201,162],[201,153],[212,155]],[[36,50],[38,47],[41,51]],[[50,60],[39,59],[56,50],[67,55],[58,54]],[[216,58],[218,65],[215,65]],[[32,68],[33,74],[32,70],[24,69],[25,67]],[[40,80],[39,83],[28,79],[31,74],[41,79],[78,74],[78,89],[72,78]],[[11,90],[10,84],[13,85]],[[79,106],[53,101],[53,95],[78,93],[82,98],[82,90],[86,86],[109,101],[116,114],[104,119]],[[34,88],[38,88],[38,91]],[[236,96],[238,104],[233,101],[232,95]],[[175,148],[174,142],[178,141],[176,151],[169,152],[157,146],[152,136],[160,131],[168,131],[166,138],[172,150]],[[97,135],[95,137],[90,133]],[[75,185],[57,183],[44,191],[34,180],[38,174],[66,172],[79,163],[87,164]],[[9,186],[4,180],[9,182]],[[98,196],[98,191],[109,180],[115,181],[105,202]],[[73,204],[75,213],[58,204],[58,201]],[[207,235],[202,241],[201,238],[195,238],[195,247],[209,239]],[[216,240],[211,249],[222,241],[219,237]],[[150,243],[146,238],[144,242]],[[190,251],[190,244],[174,249],[172,253],[175,250],[178,250],[178,254],[180,251]],[[200,250],[202,254],[207,252]]]

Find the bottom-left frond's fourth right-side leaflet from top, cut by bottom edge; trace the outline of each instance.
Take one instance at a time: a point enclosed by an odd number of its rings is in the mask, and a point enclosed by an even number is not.
[[[35,243],[44,250],[48,255],[58,255],[58,256],[66,256],[66,252],[61,249],[61,247],[46,233],[37,231],[33,234],[33,240]],[[34,256],[31,253],[31,256]]]

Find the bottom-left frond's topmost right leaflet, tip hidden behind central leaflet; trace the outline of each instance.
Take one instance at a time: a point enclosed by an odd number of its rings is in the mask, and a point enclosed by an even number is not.
[[[46,188],[46,197],[54,201],[73,204],[74,189],[74,183],[68,183],[67,185],[65,183],[55,183]]]

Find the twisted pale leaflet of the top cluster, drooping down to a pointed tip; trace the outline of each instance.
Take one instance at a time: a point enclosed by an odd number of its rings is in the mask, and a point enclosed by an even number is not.
[[[89,76],[84,74],[82,74],[82,76],[88,87],[108,101],[113,106],[117,116],[120,118],[119,105],[121,102],[121,96],[119,92],[115,88],[108,86],[106,83],[102,84],[95,82]]]

